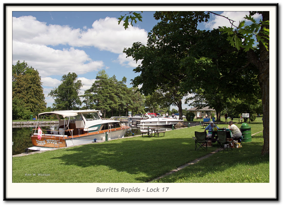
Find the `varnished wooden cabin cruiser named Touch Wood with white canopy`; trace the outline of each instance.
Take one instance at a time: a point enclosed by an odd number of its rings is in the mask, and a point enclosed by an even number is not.
[[[130,129],[126,124],[116,120],[102,120],[99,110],[68,110],[52,111],[38,114],[38,123],[31,136],[33,147],[31,150],[48,150],[72,145],[81,145],[91,142],[101,142],[109,139],[124,137]],[[38,127],[45,116],[57,116],[57,128],[42,129],[41,138],[38,136]],[[39,117],[43,116],[42,121]]]

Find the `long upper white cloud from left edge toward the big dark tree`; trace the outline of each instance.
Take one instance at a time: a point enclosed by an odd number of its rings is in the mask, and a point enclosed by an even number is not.
[[[69,26],[46,25],[33,16],[13,17],[13,40],[28,44],[94,46],[116,54],[132,43],[147,42],[147,32],[138,27],[124,29],[117,18],[106,17],[93,22],[92,28],[74,29]]]

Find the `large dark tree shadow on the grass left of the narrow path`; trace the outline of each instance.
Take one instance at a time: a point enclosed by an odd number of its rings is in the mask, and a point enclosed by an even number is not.
[[[52,159],[60,159],[65,165],[82,168],[107,166],[117,172],[138,175],[136,180],[141,182],[149,181],[210,152],[195,152],[193,139],[154,137],[112,140],[66,148],[65,151],[63,155]]]

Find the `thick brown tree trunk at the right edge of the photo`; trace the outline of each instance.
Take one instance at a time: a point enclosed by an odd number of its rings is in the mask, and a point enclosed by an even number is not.
[[[269,20],[269,11],[262,12],[262,20]],[[269,25],[265,25],[269,29]],[[269,41],[268,49],[269,49]],[[247,52],[248,59],[259,70],[258,82],[262,92],[262,107],[263,107],[263,148],[261,154],[269,154],[269,51],[266,50],[262,43],[259,43],[260,56],[249,50]]]

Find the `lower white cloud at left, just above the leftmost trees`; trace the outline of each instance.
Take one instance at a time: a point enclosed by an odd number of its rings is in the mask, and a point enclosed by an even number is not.
[[[41,77],[64,75],[68,72],[85,74],[104,68],[103,61],[92,61],[83,50],[55,50],[48,46],[13,41],[13,64],[28,62]]]

